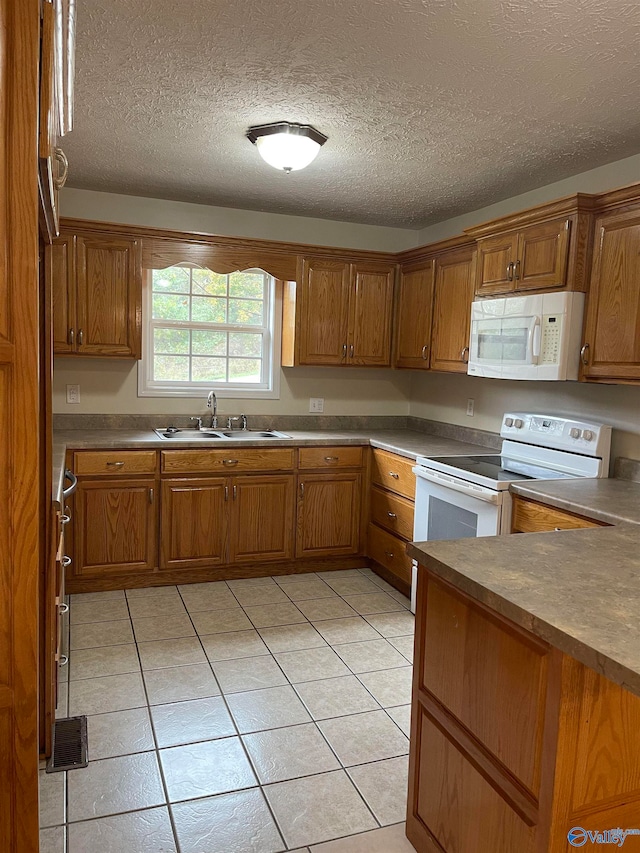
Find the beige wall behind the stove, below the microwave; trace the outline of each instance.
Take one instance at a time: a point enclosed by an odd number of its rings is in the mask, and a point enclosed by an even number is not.
[[[506,411],[539,412],[614,427],[612,456],[640,459],[640,387],[582,382],[514,382],[432,373],[413,376],[410,413],[497,432]],[[475,414],[466,414],[467,399]]]

